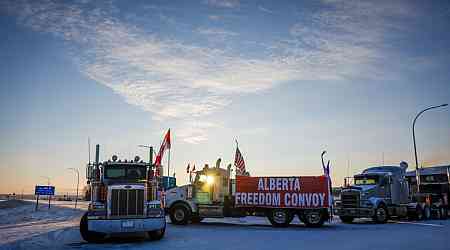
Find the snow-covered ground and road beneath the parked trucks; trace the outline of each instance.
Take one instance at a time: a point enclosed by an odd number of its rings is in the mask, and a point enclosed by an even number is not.
[[[168,224],[166,237],[149,241],[143,235],[115,237],[88,244],[78,232],[81,209],[72,202],[29,201],[0,209],[0,249],[449,249],[450,220],[342,224],[336,219],[322,228],[306,228],[297,220],[288,228],[272,228],[265,218],[206,219],[188,226]],[[131,237],[130,237],[131,236]]]

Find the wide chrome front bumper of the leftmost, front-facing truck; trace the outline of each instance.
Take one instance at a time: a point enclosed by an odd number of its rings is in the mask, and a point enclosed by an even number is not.
[[[100,233],[147,232],[162,229],[166,218],[88,220],[88,230]]]

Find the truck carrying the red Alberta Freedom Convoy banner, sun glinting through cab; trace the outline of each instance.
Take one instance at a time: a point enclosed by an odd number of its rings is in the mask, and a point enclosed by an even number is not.
[[[236,176],[227,169],[205,167],[192,184],[167,190],[166,209],[174,224],[203,218],[267,216],[273,226],[288,226],[295,216],[307,226],[330,218],[326,176]]]

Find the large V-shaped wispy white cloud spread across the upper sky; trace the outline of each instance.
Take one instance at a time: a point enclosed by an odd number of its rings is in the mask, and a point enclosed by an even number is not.
[[[205,3],[239,7],[239,1]],[[83,74],[151,112],[156,120],[180,121],[183,129],[178,136],[199,143],[217,124],[199,124],[193,119],[222,109],[234,96],[288,81],[379,75],[374,66],[382,54],[377,44],[392,27],[378,17],[388,11],[406,15],[410,10],[347,1],[326,4],[331,9],[303,13],[297,24],[286,27],[288,38],[265,44],[258,57],[148,33],[116,18],[118,10],[111,2],[97,6],[97,2],[13,1],[0,4],[0,8],[17,15],[19,23],[33,30],[69,42]],[[238,35],[210,27],[196,31],[200,36]]]

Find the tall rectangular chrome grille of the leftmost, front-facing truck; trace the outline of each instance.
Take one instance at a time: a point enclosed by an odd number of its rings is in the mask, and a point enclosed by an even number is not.
[[[112,217],[139,217],[144,215],[143,189],[112,189]]]

